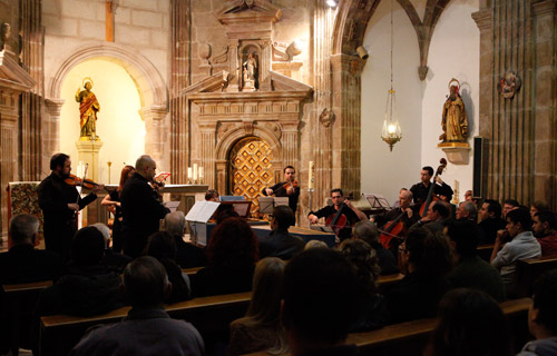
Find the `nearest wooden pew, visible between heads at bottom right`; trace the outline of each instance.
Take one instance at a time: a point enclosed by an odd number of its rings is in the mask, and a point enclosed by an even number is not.
[[[528,339],[528,308],[530,298],[501,303],[515,343],[515,350]],[[346,344],[355,344],[360,355],[404,355],[421,356],[436,327],[436,318],[420,319],[385,326],[378,330],[349,334]],[[253,353],[263,356],[266,353]],[[289,354],[290,355],[290,354]]]

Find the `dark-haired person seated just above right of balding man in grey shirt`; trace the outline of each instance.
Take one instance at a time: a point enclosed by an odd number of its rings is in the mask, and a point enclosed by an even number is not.
[[[166,300],[167,304],[186,300],[190,296],[189,278],[182,273],[176,263],[176,241],[167,231],[158,231],[149,236],[145,247],[146,256],[155,257],[165,266],[168,280],[172,283],[172,293]]]

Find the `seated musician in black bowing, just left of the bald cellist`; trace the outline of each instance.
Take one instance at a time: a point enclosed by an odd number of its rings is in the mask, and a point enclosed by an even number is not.
[[[331,190],[331,199],[333,200],[332,206],[326,206],[319,209],[317,211],[310,211],[310,214],[307,215],[307,219],[311,224],[317,224],[320,218],[325,218],[329,220],[332,217],[340,217],[341,215],[344,215],[346,222],[344,226],[340,226],[340,230],[336,236],[340,240],[350,238],[352,235],[352,226],[360,220],[367,220],[368,217],[365,216],[365,214],[354,207],[349,199],[344,198],[344,194],[340,188]],[[333,226],[333,229],[335,227]]]

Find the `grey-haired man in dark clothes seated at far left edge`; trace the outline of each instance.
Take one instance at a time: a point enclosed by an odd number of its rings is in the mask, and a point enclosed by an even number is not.
[[[22,214],[11,218],[8,234],[13,246],[0,254],[2,285],[52,280],[58,277],[61,259],[58,254],[35,249],[39,220]]]

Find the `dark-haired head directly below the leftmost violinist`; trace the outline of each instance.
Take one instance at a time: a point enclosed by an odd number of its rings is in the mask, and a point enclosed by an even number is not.
[[[92,226],[87,226],[76,233],[71,241],[71,259],[78,266],[95,266],[105,256],[105,238]]]

